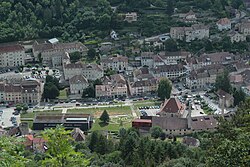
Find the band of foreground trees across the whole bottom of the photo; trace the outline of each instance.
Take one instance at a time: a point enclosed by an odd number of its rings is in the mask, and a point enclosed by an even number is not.
[[[195,133],[200,147],[188,147],[176,138],[140,136],[136,129],[120,129],[119,139],[94,131],[85,142],[75,142],[62,127],[41,135],[45,153],[24,148],[22,138],[0,138],[0,166],[52,167],[247,167],[250,166],[250,99],[231,120],[221,118],[218,131]]]

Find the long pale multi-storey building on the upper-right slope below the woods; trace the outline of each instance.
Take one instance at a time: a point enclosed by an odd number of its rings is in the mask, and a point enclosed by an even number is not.
[[[171,27],[170,36],[172,39],[185,40],[186,42],[201,40],[209,38],[209,27],[202,24],[194,24],[191,27]]]

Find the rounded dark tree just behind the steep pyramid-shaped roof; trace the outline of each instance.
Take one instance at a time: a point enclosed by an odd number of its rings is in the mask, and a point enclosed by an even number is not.
[[[161,100],[170,98],[171,90],[172,84],[170,81],[167,78],[162,78],[158,84],[158,97],[160,97]]]

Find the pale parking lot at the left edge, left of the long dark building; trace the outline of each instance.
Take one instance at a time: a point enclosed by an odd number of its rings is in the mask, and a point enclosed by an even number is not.
[[[20,115],[13,115],[14,108],[0,108],[0,126],[7,128],[20,123]]]

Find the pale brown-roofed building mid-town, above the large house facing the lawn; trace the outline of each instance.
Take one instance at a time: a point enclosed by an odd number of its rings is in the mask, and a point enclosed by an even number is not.
[[[117,72],[125,72],[128,69],[128,58],[126,56],[102,56],[101,66],[104,70],[111,69]]]

